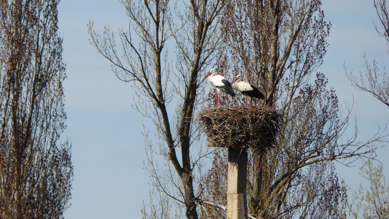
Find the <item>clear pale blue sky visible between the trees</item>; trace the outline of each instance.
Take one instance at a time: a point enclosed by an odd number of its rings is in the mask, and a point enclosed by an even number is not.
[[[335,87],[342,109],[359,97],[355,109],[359,136],[366,139],[378,126],[389,123],[389,108],[349,85],[343,64],[363,71],[363,53],[387,64],[386,42],[375,32],[377,15],[370,0],[323,0],[332,28],[324,64],[319,71]],[[65,134],[72,142],[74,182],[72,206],[67,219],[140,218],[142,200],[147,200],[149,178],[143,169],[142,117],[131,108],[131,88],[110,71],[110,64],[89,44],[87,23],[96,30],[104,24],[116,31],[126,28],[128,18],[118,0],[63,0],[59,5],[59,28],[63,36],[63,59],[67,65],[64,83],[67,112]],[[212,66],[210,66],[212,67]],[[147,121],[146,121],[147,122]],[[354,124],[351,123],[352,127]],[[389,149],[378,151],[389,166]],[[389,168],[384,169],[389,177]],[[339,176],[356,187],[357,168],[338,166]]]

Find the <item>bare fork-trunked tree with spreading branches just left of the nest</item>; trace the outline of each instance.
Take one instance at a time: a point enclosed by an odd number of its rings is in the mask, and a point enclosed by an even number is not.
[[[217,21],[225,2],[121,0],[130,19],[128,31],[119,30],[122,51],[109,27],[99,35],[89,23],[91,44],[109,60],[119,79],[133,82],[134,107],[156,126],[159,141],[146,138],[146,145],[151,152],[159,145],[158,153],[164,155],[168,170],[158,169],[149,157],[146,167],[152,184],[182,205],[190,219],[198,218],[193,182],[198,159],[193,159],[191,148],[199,138],[193,118],[198,102],[203,101],[199,96],[203,95],[205,67],[209,68],[221,46]],[[168,47],[177,48],[175,57],[171,58]],[[172,60],[177,60],[174,71]]]

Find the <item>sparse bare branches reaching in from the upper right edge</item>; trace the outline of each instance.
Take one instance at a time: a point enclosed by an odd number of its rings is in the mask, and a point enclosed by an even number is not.
[[[387,43],[389,42],[389,4],[386,0],[373,0],[374,7],[377,11],[378,18],[384,30],[380,30],[376,24],[374,24],[378,35],[385,37]],[[388,51],[389,53],[389,51]],[[389,106],[389,76],[386,74],[385,67],[380,71],[377,62],[373,60],[370,66],[366,56],[364,55],[366,72],[359,72],[359,76],[354,76],[352,71],[346,76],[349,79],[351,85],[358,90],[366,91],[379,101]]]

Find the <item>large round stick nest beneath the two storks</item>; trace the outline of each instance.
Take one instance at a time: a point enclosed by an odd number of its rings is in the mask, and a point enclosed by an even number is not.
[[[208,108],[198,118],[212,147],[270,147],[281,124],[280,111],[256,106]]]

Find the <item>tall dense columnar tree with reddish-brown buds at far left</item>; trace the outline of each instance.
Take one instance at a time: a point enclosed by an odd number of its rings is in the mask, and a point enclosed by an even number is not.
[[[62,218],[73,166],[65,129],[59,0],[2,1],[0,217]]]

